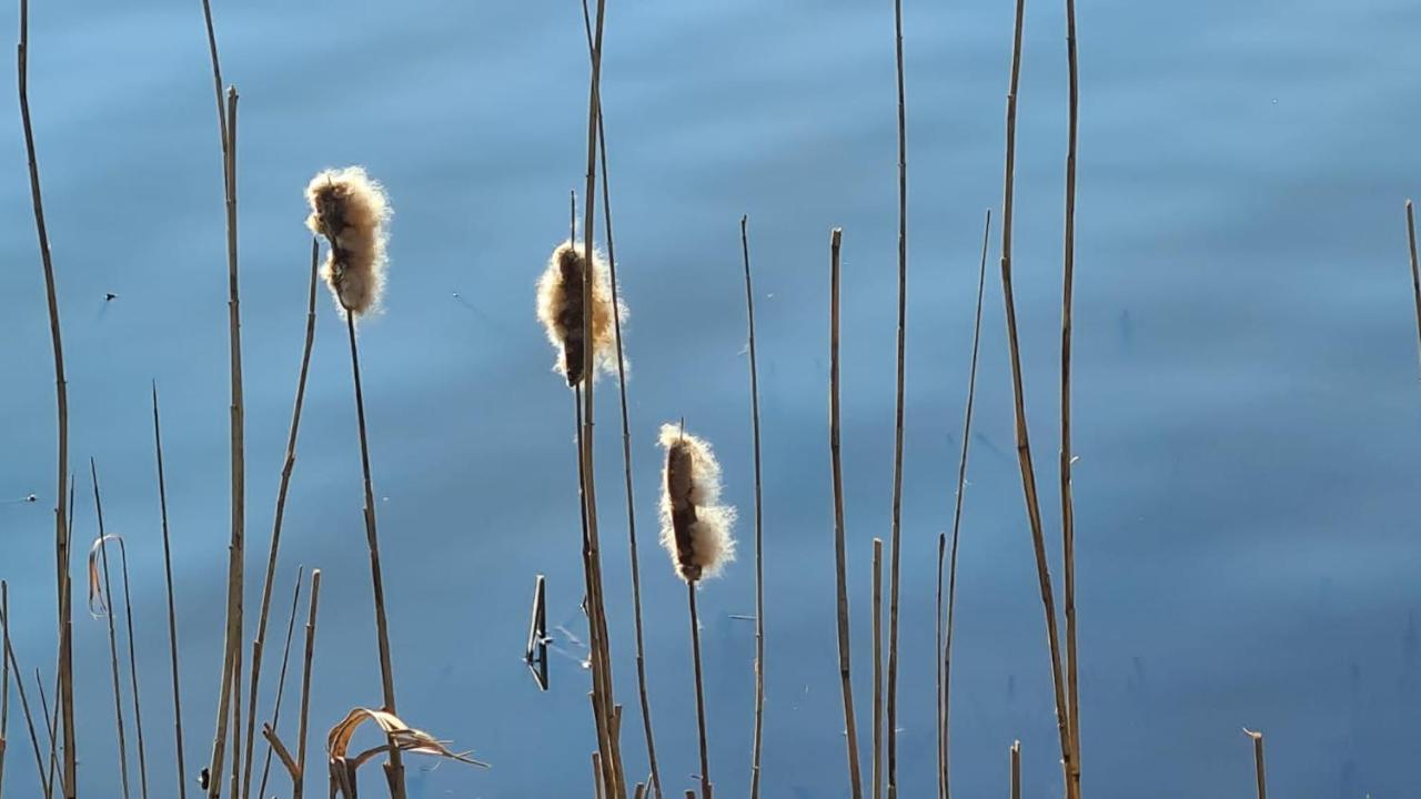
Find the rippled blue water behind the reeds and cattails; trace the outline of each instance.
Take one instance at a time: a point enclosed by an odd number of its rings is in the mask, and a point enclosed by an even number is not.
[[[934,790],[936,537],[951,525],[982,213],[1000,203],[1013,4],[905,3],[909,119],[899,769]],[[6,17],[13,31],[13,16]],[[411,796],[587,796],[587,674],[522,663],[534,576],[578,634],[571,409],[533,284],[581,195],[587,51],[558,3],[219,3],[239,115],[249,608],[304,328],[301,189],[364,163],[396,213],[361,330],[399,709],[493,763]],[[1418,790],[1421,384],[1403,200],[1421,193],[1421,6],[1083,3],[1074,472],[1084,785],[1098,798]],[[227,321],[200,3],[31,3],[31,101],[64,317],[71,465],[128,540],[153,796],[175,795],[149,381],[162,392],[188,762],[212,741],[225,601]],[[1060,587],[1057,381],[1066,48],[1027,4],[1016,293]],[[13,60],[0,85],[13,87]],[[13,91],[13,90],[6,90]],[[54,387],[13,94],[0,104],[0,576],[16,651],[54,668]],[[699,771],[684,591],[655,546],[662,421],[712,441],[740,560],[701,594],[710,766],[749,782],[755,630],[737,220],[750,216],[764,441],[764,796],[847,796],[834,637],[828,230],[844,227],[844,466],[867,772],[870,539],[888,537],[897,290],[892,7],[610,3],[604,101],[627,347],[647,665],[666,795]],[[600,237],[600,236],[598,236]],[[993,240],[996,236],[993,235]],[[1013,452],[993,243],[961,549],[952,775],[1059,790],[1043,616]],[[105,301],[105,293],[118,297]],[[458,293],[459,299],[453,294]],[[350,365],[327,296],[273,638],[324,573],[311,717],[379,702]],[[605,580],[628,772],[645,773],[612,381],[597,392]],[[94,536],[88,479],[75,537]],[[28,493],[34,503],[14,502]],[[80,546],[82,550],[82,546]],[[118,796],[107,626],[75,559],[80,769]],[[252,637],[249,624],[247,638]],[[576,653],[574,653],[576,654]],[[274,687],[276,660],[264,678]],[[294,691],[294,681],[291,690]],[[34,701],[34,688],[31,701]],[[288,692],[288,698],[290,698]],[[264,697],[264,707],[269,705]],[[283,735],[290,739],[290,708]],[[37,795],[18,711],[7,796]],[[129,736],[132,742],[132,735]],[[136,769],[135,769],[136,793]],[[365,772],[367,792],[379,782]],[[286,781],[273,775],[276,790]]]

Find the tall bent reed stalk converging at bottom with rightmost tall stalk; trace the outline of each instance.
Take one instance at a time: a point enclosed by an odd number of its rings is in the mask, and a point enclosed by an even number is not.
[[[1016,181],[1016,92],[1022,77],[1022,21],[1026,0],[1016,0],[1016,24],[1012,38],[1012,78],[1006,95],[1006,169],[1002,181],[1002,296],[1006,304],[1006,338],[1012,355],[1012,397],[1016,411],[1016,456],[1022,471],[1022,492],[1026,515],[1032,526],[1036,552],[1036,576],[1040,581],[1042,608],[1046,614],[1046,637],[1052,658],[1052,684],[1056,691],[1056,726],[1060,732],[1061,768],[1067,799],[1076,799],[1070,779],[1073,758],[1067,722],[1066,687],[1061,674],[1060,636],[1056,631],[1056,597],[1050,567],[1046,560],[1046,533],[1042,529],[1042,508],[1036,493],[1036,471],[1032,466],[1030,434],[1026,429],[1026,391],[1022,385],[1022,351],[1016,334],[1016,301],[1012,296],[1012,210]]]

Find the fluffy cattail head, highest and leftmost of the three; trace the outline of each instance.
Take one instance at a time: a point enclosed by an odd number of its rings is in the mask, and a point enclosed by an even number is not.
[[[311,215],[306,226],[325,236],[331,249],[321,279],[335,304],[357,316],[379,304],[385,290],[385,189],[360,166],[325,169],[306,186]]]

